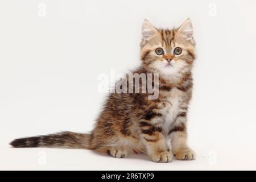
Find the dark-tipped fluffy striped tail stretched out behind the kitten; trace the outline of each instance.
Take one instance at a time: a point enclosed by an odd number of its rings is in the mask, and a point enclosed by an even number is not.
[[[42,135],[38,137],[19,138],[10,143],[13,147],[53,147],[53,148],[90,148],[91,134],[61,133]]]

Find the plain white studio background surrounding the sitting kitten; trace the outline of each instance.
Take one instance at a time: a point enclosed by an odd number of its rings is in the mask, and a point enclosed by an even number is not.
[[[1,1],[0,169],[256,169],[255,9],[253,0]],[[105,98],[97,77],[139,65],[145,18],[156,27],[193,22],[188,129],[196,160],[9,146],[18,137],[91,131]]]

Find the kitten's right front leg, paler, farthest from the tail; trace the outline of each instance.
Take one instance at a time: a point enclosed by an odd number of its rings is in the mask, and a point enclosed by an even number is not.
[[[193,160],[196,158],[195,152],[187,144],[187,127],[185,114],[178,115],[176,125],[169,131],[171,138],[172,154],[179,160]]]

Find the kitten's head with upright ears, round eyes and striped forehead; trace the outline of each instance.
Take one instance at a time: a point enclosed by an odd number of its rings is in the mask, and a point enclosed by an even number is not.
[[[145,68],[164,76],[179,76],[192,68],[195,42],[191,20],[176,29],[157,29],[144,20],[141,59]]]

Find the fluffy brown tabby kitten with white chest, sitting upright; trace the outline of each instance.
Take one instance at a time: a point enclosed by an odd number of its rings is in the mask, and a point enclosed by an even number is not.
[[[157,98],[149,99],[147,92],[110,93],[92,133],[66,131],[20,138],[13,140],[11,146],[85,148],[115,158],[144,152],[152,161],[162,163],[171,162],[173,156],[180,160],[195,159],[187,144],[186,127],[195,60],[192,33],[189,19],[173,30],[157,29],[144,20],[142,65],[133,73],[158,73],[159,79],[154,77],[151,81],[151,86],[158,86]],[[133,89],[137,86],[133,84]]]

